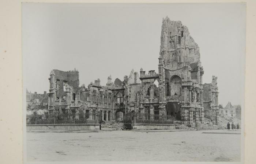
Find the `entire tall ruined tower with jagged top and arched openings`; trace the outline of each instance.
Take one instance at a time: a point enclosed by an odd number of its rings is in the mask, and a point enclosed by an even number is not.
[[[163,19],[159,54],[159,109],[191,127],[203,123],[199,47],[180,21]]]

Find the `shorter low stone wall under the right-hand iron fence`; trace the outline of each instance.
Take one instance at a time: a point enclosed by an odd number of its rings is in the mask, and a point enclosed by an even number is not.
[[[169,130],[175,129],[174,124],[132,124],[134,130]]]

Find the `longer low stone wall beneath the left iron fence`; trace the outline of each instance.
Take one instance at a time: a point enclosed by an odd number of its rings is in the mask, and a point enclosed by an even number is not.
[[[31,130],[99,130],[99,124],[48,124],[48,125],[27,125],[27,132]]]

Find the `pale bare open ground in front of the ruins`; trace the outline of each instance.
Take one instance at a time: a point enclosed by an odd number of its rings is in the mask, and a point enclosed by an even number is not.
[[[27,160],[240,161],[241,135],[222,132],[227,131],[27,132]]]

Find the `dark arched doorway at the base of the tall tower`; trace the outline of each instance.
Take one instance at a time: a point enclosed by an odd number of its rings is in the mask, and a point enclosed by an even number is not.
[[[174,120],[181,120],[180,105],[176,102],[168,102],[166,104],[166,114],[174,117]]]

